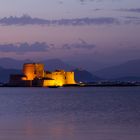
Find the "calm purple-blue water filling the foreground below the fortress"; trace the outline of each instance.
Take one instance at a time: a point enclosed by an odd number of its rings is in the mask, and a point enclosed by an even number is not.
[[[140,87],[0,88],[0,140],[140,140]]]

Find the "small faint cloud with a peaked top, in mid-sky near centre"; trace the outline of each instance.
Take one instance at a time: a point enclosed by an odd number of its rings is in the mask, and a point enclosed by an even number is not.
[[[72,50],[72,49],[84,49],[84,50],[92,50],[96,47],[95,44],[89,44],[86,41],[79,39],[78,43],[72,44],[64,44],[62,49]]]

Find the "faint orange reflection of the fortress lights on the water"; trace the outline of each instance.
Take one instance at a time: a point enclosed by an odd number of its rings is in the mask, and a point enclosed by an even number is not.
[[[73,124],[68,124],[66,122],[54,121],[51,123],[33,122],[32,120],[26,120],[24,122],[25,135],[28,138],[33,138],[34,136],[47,136],[53,139],[63,139],[64,135],[70,137],[74,136],[75,126]]]

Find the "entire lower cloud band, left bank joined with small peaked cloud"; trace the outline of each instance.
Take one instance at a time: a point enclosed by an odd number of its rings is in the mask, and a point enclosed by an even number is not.
[[[55,44],[47,44],[45,42],[35,42],[33,44],[28,43],[18,43],[18,44],[0,44],[0,52],[5,53],[17,53],[17,54],[24,54],[24,53],[33,53],[33,52],[48,52],[50,50],[55,51],[57,50],[92,50],[96,47],[95,44],[89,44],[83,39],[79,39],[77,43],[67,43],[62,45],[62,47],[57,48]]]

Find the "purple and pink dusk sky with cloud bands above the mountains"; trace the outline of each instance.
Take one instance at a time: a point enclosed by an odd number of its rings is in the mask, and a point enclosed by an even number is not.
[[[0,57],[98,69],[140,59],[139,37],[139,0],[0,0]]]

